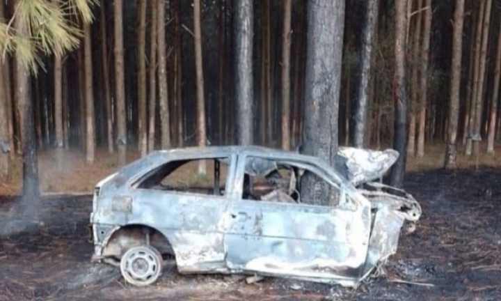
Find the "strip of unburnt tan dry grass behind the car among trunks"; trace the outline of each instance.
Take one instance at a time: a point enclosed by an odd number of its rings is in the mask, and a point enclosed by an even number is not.
[[[485,146],[482,145],[482,150]],[[440,169],[445,161],[445,145],[429,144],[425,152],[426,156],[408,157],[407,171],[424,171]],[[496,146],[496,153],[501,153],[501,144]],[[132,162],[138,158],[138,152],[130,149],[127,152],[127,161]],[[13,177],[11,180],[0,183],[0,195],[19,194],[22,189],[22,158],[17,157],[13,162]],[[58,163],[59,162],[59,163]],[[61,160],[57,160],[54,150],[42,151],[38,155],[40,190],[42,193],[67,193],[81,192],[91,193],[95,183],[118,169],[116,155],[109,154],[104,149],[98,149],[95,154],[95,162],[86,162],[84,153],[80,150],[63,151]],[[475,168],[474,157],[463,155],[463,149],[459,149],[457,158],[460,169]],[[482,153],[479,165],[486,167],[500,167],[500,155],[486,155]],[[193,167],[193,171],[195,168]]]

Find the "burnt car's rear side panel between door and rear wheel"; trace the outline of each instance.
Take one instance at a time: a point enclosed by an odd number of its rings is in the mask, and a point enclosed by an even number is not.
[[[216,157],[210,158],[216,160]],[[137,190],[132,208],[140,215],[134,215],[137,220],[129,223],[153,225],[160,229],[172,245],[177,269],[180,272],[221,272],[226,270],[225,249],[223,245],[224,213],[228,210],[230,199],[228,197],[229,179],[233,177],[232,156],[217,158],[226,162],[224,171],[225,183],[222,194],[216,190],[207,190],[207,194],[200,192],[200,187],[189,187],[200,183],[210,177],[212,167],[207,164],[207,176],[196,178],[196,173],[184,171],[183,166],[176,170],[186,178],[170,173],[166,175],[175,178],[186,189],[174,188],[173,181],[166,182],[165,189],[152,185],[150,189],[144,187]],[[182,160],[183,162],[186,160]],[[197,161],[189,160],[189,164]],[[175,161],[170,162],[175,164]],[[169,164],[169,163],[168,163]],[[222,163],[221,163],[222,164]],[[196,165],[196,163],[194,164]]]

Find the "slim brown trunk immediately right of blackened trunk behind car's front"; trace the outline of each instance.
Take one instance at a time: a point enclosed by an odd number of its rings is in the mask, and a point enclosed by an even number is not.
[[[407,10],[412,11],[413,7],[413,1],[410,0],[407,2]],[[417,100],[420,98],[420,91],[419,91],[419,77],[420,77],[420,68],[418,66],[418,60],[420,59],[420,41],[421,41],[421,20],[422,20],[422,12],[420,11],[422,8],[422,0],[417,0],[417,8],[416,11],[419,12],[417,13],[417,16],[415,17],[414,22],[412,21],[411,15],[408,15],[409,20],[407,26],[411,26],[411,23],[414,23],[413,27],[413,42],[412,42],[412,49],[411,52],[409,53],[411,55],[411,64],[408,65],[409,71],[411,73],[411,86],[409,87],[411,98],[409,99],[409,126],[408,126],[408,136],[407,136],[407,155],[408,156],[415,156],[415,132],[416,132],[416,110],[415,108],[417,107]],[[423,75],[421,75],[423,77]]]

